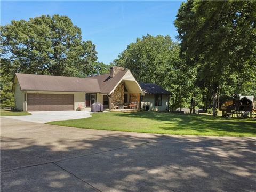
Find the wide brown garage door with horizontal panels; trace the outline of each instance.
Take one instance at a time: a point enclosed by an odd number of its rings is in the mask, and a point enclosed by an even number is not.
[[[73,94],[28,94],[28,111],[74,110]]]

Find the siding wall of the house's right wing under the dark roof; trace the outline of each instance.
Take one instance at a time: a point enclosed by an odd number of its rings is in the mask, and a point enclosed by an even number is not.
[[[143,101],[141,101],[141,108],[143,105],[149,105],[150,111],[166,111],[168,107],[168,95],[162,95],[162,106],[155,106],[155,95],[146,94],[143,96]]]

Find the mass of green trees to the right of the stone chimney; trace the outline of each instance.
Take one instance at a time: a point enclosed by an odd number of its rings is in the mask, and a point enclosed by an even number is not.
[[[179,43],[143,36],[115,63],[171,91],[172,110],[199,107],[216,115],[217,98],[256,97],[255,20],[255,1],[188,1],[174,22]]]

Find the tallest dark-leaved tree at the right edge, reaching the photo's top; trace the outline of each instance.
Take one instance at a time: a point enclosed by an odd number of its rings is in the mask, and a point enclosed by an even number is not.
[[[255,1],[188,1],[182,3],[175,26],[189,65],[207,83],[215,115],[218,87],[240,79],[238,89],[253,81],[256,69]]]

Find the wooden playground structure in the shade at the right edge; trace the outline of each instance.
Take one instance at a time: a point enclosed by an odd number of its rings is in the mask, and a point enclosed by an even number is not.
[[[221,105],[222,117],[254,118],[256,107],[253,96],[234,94],[233,98]]]

